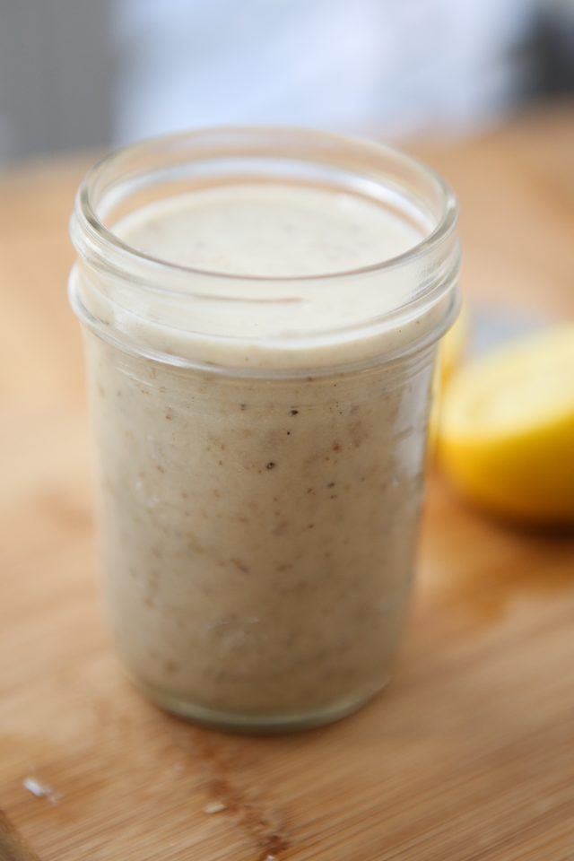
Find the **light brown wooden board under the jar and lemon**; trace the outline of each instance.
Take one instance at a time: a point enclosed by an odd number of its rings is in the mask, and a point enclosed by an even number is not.
[[[461,197],[469,295],[574,317],[572,111],[418,149]],[[572,861],[574,542],[490,522],[438,476],[396,678],[358,715],[218,735],[125,681],[65,299],[81,173],[0,179],[0,807],[22,840],[41,861]]]

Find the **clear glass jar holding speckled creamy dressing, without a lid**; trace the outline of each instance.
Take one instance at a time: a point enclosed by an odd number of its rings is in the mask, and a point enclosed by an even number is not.
[[[243,182],[361,196],[419,238],[350,271],[248,276],[154,257],[117,229]],[[387,682],[437,344],[457,313],[456,224],[454,196],[418,162],[285,128],[157,139],[84,179],[70,297],[105,603],[127,673],[163,708],[289,730],[341,718]]]

